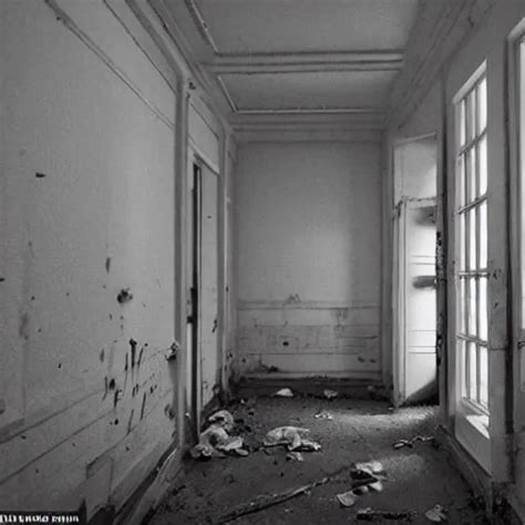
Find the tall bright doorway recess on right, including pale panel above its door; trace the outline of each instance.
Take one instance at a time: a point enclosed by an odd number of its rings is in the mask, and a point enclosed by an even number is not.
[[[435,134],[393,148],[393,403],[437,403]]]

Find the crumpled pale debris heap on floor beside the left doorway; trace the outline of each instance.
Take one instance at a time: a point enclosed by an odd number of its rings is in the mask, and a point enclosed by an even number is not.
[[[212,414],[208,423],[210,425],[200,433],[198,443],[191,451],[193,459],[224,457],[227,453],[248,455],[243,437],[229,435],[234,429],[234,416],[227,410]]]

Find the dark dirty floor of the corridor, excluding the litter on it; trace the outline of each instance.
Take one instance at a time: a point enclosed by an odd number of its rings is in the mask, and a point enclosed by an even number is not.
[[[349,486],[349,469],[333,481],[274,507],[240,517],[235,524],[339,524],[357,522],[359,508],[410,511],[411,523],[431,523],[424,512],[441,504],[451,524],[488,523],[466,483],[454,469],[452,459],[431,442],[412,449],[394,450],[399,439],[418,434],[434,435],[436,420],[432,408],[389,410],[378,401],[313,398],[257,398],[230,408],[244,426],[241,435],[257,446],[267,431],[280,425],[305,426],[320,452],[305,452],[305,461],[287,461],[284,449],[264,450],[247,457],[188,459],[184,475],[153,516],[154,525],[215,523],[225,512],[261,494],[292,490],[320,480],[352,462],[378,460],[387,471],[384,490],[360,496],[350,508],[339,505],[336,495]],[[333,420],[316,419],[327,410]],[[370,522],[369,522],[370,523]],[[373,523],[408,523],[378,521]]]

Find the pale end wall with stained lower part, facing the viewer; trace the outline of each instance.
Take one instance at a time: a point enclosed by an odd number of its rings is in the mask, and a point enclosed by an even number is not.
[[[379,144],[245,144],[235,203],[236,370],[377,378]]]

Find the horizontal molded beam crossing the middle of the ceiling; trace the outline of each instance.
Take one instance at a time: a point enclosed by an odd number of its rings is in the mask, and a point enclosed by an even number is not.
[[[399,50],[217,54],[205,64],[215,74],[315,73],[322,71],[399,71]]]

